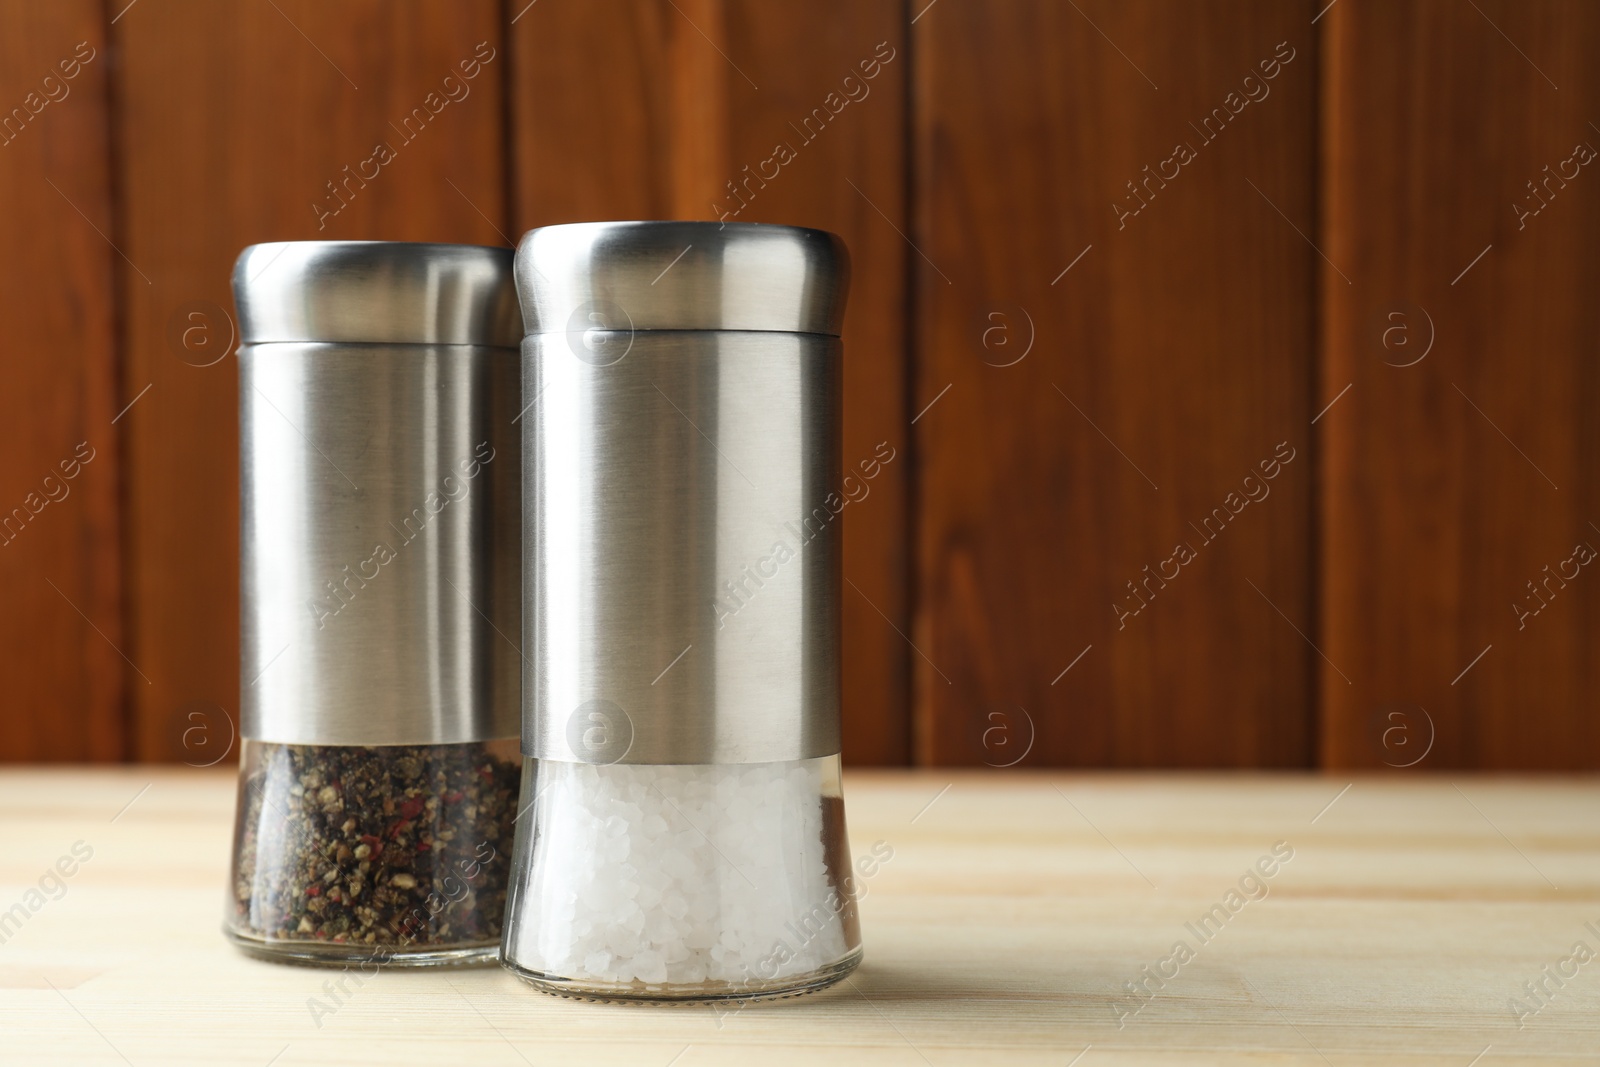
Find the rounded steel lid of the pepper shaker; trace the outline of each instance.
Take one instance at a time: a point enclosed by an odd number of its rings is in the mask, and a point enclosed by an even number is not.
[[[234,264],[243,344],[517,347],[512,251],[411,242],[274,242]]]

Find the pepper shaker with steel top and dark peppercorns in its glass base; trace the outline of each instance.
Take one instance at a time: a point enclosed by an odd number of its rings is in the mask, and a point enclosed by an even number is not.
[[[224,933],[333,966],[493,958],[522,773],[512,253],[254,245],[234,296],[243,749]]]

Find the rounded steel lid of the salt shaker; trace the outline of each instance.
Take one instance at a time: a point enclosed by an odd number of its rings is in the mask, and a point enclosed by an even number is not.
[[[850,253],[834,234],[763,222],[578,222],[517,248],[528,333],[750,330],[837,338]]]

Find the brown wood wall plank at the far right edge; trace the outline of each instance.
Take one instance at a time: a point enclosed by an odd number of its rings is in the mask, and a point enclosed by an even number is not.
[[[1325,761],[1600,766],[1600,10],[1325,30]]]

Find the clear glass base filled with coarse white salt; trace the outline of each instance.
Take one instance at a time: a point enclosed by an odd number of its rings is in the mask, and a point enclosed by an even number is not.
[[[530,809],[531,806],[531,809]],[[838,757],[526,760],[501,963],[592,1000],[755,1000],[861,961]]]

